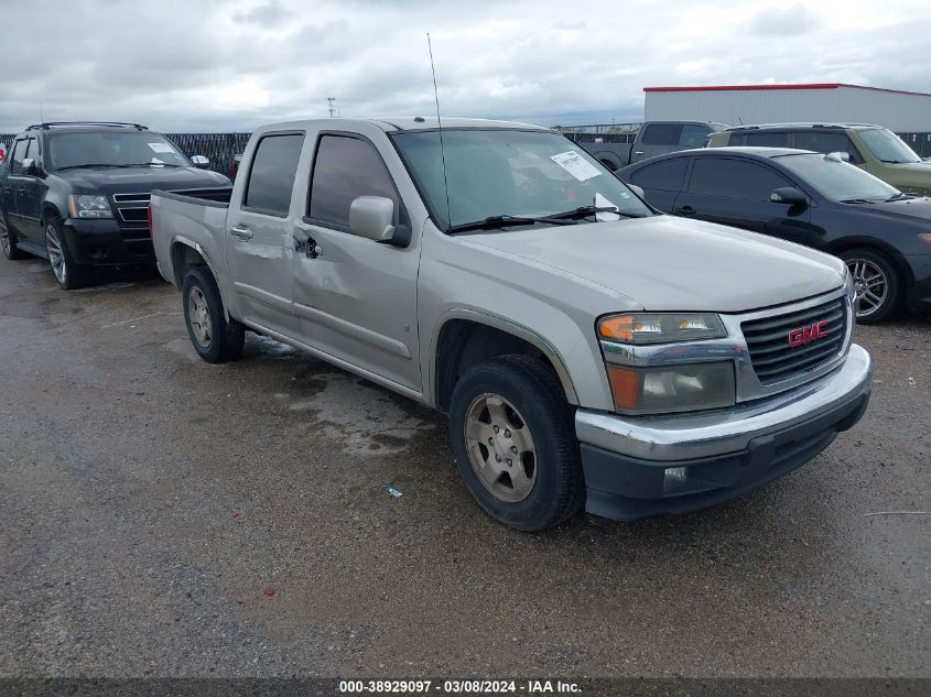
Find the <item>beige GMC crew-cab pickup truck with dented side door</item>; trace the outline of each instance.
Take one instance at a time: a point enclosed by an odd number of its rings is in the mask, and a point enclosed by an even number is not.
[[[520,530],[725,501],[869,399],[842,261],[660,215],[548,129],[266,126],[228,204],[150,215],[205,360],[256,331],[447,413],[466,487]]]

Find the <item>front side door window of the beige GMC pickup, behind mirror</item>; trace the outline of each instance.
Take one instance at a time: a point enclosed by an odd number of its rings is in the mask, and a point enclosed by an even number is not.
[[[368,141],[324,135],[317,145],[307,215],[328,227],[349,229],[349,206],[359,196],[383,196],[399,210],[394,183]]]

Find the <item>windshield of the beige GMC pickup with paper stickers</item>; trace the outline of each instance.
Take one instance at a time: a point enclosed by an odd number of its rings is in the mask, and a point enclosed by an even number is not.
[[[559,133],[444,130],[442,154],[437,131],[396,133],[393,140],[441,229],[498,216],[545,217],[583,206],[652,215],[604,165]]]

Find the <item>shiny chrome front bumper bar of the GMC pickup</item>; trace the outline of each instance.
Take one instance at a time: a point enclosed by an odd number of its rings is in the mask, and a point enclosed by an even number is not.
[[[653,417],[623,417],[580,409],[575,433],[583,444],[626,457],[674,462],[746,450],[760,436],[784,432],[869,394],[873,361],[851,345],[835,371],[800,388],[727,411]]]

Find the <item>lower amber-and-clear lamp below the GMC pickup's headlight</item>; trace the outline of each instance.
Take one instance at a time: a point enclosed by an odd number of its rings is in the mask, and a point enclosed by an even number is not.
[[[668,414],[733,406],[734,363],[693,363],[663,368],[608,364],[615,409],[624,414]]]

